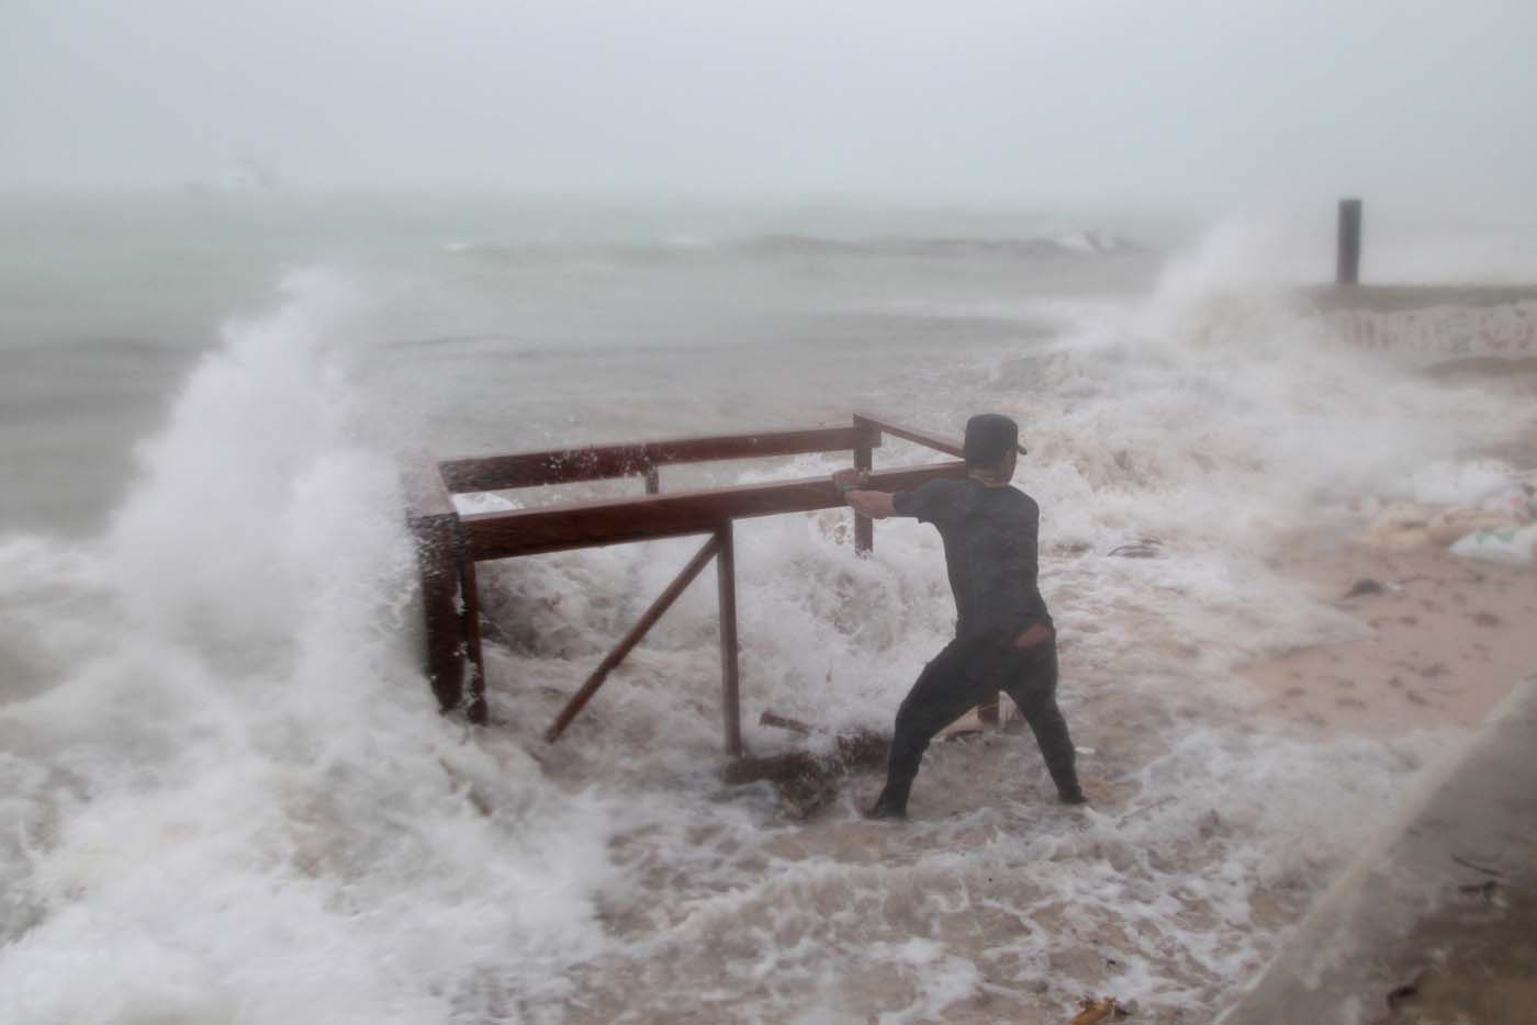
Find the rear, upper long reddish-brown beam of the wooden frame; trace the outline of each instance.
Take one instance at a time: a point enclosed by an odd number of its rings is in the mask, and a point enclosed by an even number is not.
[[[673,438],[636,444],[587,446],[550,452],[472,456],[443,461],[450,492],[496,492],[541,484],[572,484],[638,476],[672,463],[712,463],[807,452],[845,452],[864,440],[856,427],[761,430],[750,435]]]

